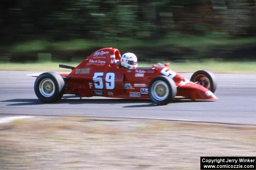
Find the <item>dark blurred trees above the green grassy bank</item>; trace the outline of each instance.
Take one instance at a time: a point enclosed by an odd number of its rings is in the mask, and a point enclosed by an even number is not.
[[[254,0],[2,0],[0,44],[256,35]],[[5,51],[5,48],[1,48]]]

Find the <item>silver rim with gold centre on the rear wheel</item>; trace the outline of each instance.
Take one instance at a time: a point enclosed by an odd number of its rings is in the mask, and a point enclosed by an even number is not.
[[[43,79],[39,84],[39,91],[44,97],[51,97],[55,92],[55,85],[52,79]]]

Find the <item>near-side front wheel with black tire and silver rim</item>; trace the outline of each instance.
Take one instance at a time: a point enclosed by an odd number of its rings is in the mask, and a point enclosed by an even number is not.
[[[167,76],[155,77],[148,88],[150,99],[158,105],[170,103],[177,94],[175,82]]]

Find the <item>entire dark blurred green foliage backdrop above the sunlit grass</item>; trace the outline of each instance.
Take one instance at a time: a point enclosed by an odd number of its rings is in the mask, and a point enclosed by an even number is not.
[[[255,59],[255,0],[2,0],[0,61]]]

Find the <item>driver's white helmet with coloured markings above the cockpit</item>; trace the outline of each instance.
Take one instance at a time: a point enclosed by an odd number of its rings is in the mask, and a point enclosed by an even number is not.
[[[121,57],[121,66],[136,69],[138,67],[136,55],[131,52],[124,53]]]

